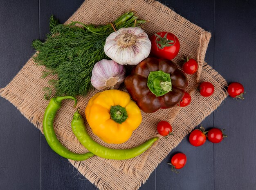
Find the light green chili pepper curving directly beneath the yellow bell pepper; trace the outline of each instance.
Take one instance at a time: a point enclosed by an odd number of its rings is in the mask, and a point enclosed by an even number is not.
[[[145,152],[158,139],[158,137],[149,139],[145,143],[130,149],[119,150],[107,148],[103,145],[98,144],[90,137],[90,135],[86,131],[83,117],[78,110],[74,113],[71,127],[76,138],[83,146],[85,146],[85,148],[87,148],[87,150],[105,159],[126,160],[134,158],[135,156],[138,156],[139,154]]]

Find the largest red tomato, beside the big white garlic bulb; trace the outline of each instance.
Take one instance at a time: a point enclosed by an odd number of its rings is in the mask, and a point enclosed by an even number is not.
[[[173,59],[180,51],[178,38],[170,32],[158,32],[151,36],[151,54],[157,58]]]

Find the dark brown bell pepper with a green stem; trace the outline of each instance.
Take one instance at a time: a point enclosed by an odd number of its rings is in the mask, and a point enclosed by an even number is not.
[[[124,84],[139,108],[153,113],[177,105],[188,80],[171,60],[146,58],[126,77]]]

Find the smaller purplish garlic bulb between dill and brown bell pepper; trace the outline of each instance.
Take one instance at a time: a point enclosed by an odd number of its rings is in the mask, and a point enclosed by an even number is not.
[[[100,60],[92,69],[92,86],[98,90],[118,89],[124,82],[125,72],[124,65],[113,60]]]

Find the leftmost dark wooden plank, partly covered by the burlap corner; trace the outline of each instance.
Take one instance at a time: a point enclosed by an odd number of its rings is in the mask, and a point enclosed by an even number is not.
[[[0,1],[0,87],[29,57],[38,38],[37,1]],[[40,189],[40,132],[0,98],[0,190]]]

